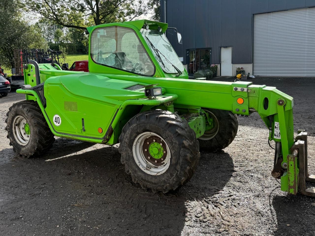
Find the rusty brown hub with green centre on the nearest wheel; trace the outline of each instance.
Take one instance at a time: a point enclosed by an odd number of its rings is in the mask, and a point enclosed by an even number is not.
[[[142,152],[145,159],[154,166],[162,166],[167,156],[166,144],[157,136],[150,136],[144,140]]]

